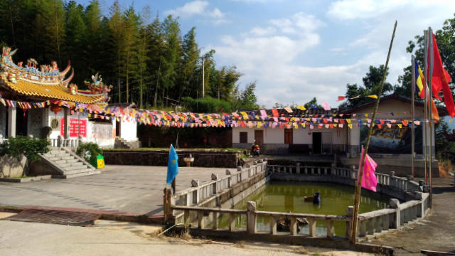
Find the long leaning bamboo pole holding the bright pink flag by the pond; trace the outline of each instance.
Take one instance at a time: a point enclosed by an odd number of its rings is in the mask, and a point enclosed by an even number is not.
[[[360,156],[360,159],[363,159],[363,163],[359,164],[358,178],[357,178],[357,182],[355,183],[353,220],[351,221],[352,225],[350,227],[350,241],[353,243],[357,242],[356,237],[357,237],[358,208],[360,206],[360,192],[362,189],[361,183],[362,183],[362,178],[363,178],[362,166],[365,166],[365,160],[366,160],[365,156],[368,153],[368,146],[370,145],[371,132],[373,131],[373,127],[375,126],[376,112],[378,112],[379,102],[380,102],[380,98],[381,98],[380,96],[382,94],[382,87],[384,87],[385,75],[387,74],[387,66],[389,65],[390,51],[392,50],[393,38],[395,38],[396,30],[397,30],[397,21],[395,21],[395,26],[393,27],[392,39],[390,39],[389,52],[387,53],[387,60],[385,61],[384,74],[382,74],[382,80],[381,80],[380,89],[378,92],[378,100],[376,100],[376,107],[375,107],[375,110],[373,111],[373,117],[371,117],[370,130],[368,131],[368,137],[367,137],[367,141],[365,143],[365,151],[363,153],[363,156]]]

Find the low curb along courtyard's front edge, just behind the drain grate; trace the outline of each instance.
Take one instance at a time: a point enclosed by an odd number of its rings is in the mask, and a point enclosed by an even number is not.
[[[164,215],[162,213],[155,213],[153,215],[145,215],[139,213],[119,212],[112,210],[91,210],[80,208],[63,208],[63,207],[48,207],[48,206],[0,206],[0,211],[9,213],[20,213],[22,210],[35,209],[35,210],[63,210],[77,213],[95,213],[100,214],[101,220],[117,220],[129,221],[142,224],[163,224]]]

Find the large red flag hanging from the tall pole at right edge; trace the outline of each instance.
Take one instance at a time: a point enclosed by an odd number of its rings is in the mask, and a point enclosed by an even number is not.
[[[447,112],[449,112],[451,117],[455,117],[455,104],[454,97],[449,87],[449,82],[451,80],[449,73],[442,66],[441,55],[439,55],[438,45],[436,43],[436,38],[433,34],[433,53],[434,53],[434,68],[433,68],[433,78],[432,78],[432,90],[433,95],[437,99],[441,100],[438,92],[442,90],[444,95],[444,104],[446,105]]]

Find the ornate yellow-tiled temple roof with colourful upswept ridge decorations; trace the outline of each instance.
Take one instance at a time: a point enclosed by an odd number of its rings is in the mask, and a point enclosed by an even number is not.
[[[85,82],[89,90],[78,90],[77,85],[70,83],[73,73],[65,78],[71,70],[68,65],[65,70],[58,70],[57,64],[41,65],[41,70],[36,66],[36,60],[28,59],[26,67],[22,63],[17,65],[11,59],[16,50],[3,48],[0,63],[0,90],[13,92],[15,95],[33,97],[36,100],[65,100],[92,104],[109,100],[107,92],[111,87],[102,83],[98,75],[92,76],[93,82]],[[15,93],[14,93],[15,92]]]

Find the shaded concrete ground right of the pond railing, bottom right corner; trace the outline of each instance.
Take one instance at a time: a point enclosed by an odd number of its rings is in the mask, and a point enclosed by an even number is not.
[[[424,220],[371,242],[395,247],[396,255],[420,255],[419,250],[455,253],[454,178],[433,178],[433,208]]]

